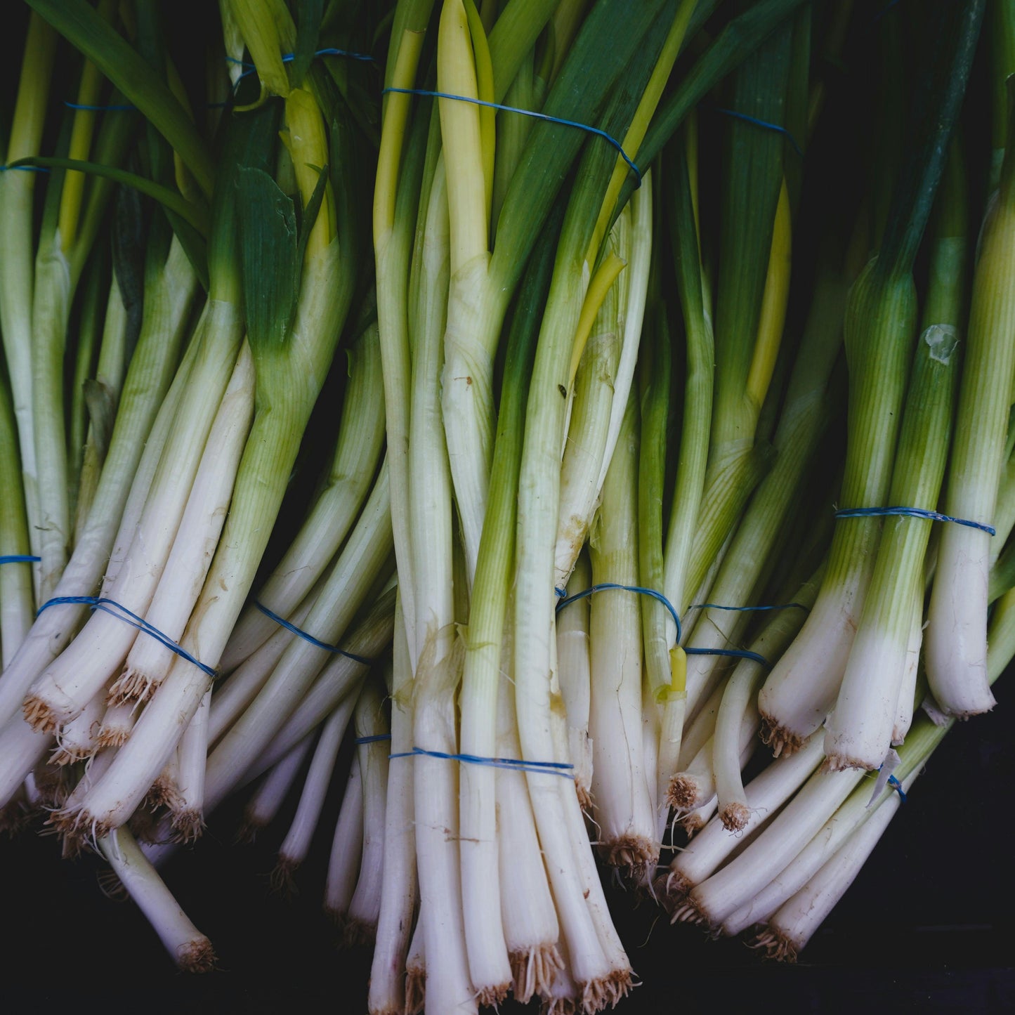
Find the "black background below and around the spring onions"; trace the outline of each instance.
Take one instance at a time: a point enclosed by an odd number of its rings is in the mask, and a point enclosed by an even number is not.
[[[0,80],[6,96],[13,94],[25,8],[4,7],[9,20],[0,42]],[[196,22],[213,17],[214,5],[183,0],[173,11],[168,29],[178,39],[201,30]],[[0,110],[5,124],[10,112],[6,104]],[[609,889],[642,980],[620,1011],[716,1002],[722,1010],[777,1005],[822,1013],[858,1006],[874,1012],[1015,1010],[1008,929],[1015,774],[1006,726],[1009,680],[996,687],[994,714],[948,735],[798,964],[764,962],[740,942],[706,941],[697,929],[671,927],[651,903],[635,907],[631,895]],[[335,785],[343,784],[339,772]],[[223,806],[204,839],[164,871],[218,954],[217,969],[200,976],[179,973],[139,911],[101,893],[96,858],[64,861],[58,841],[37,829],[0,840],[0,911],[8,932],[0,1004],[10,1011],[49,1010],[68,1001],[85,1010],[129,1006],[151,1013],[296,1006],[363,1011],[369,953],[341,950],[321,909],[327,836],[319,836],[298,872],[296,894],[274,895],[268,875],[286,821],[252,845],[234,845],[243,803]],[[322,827],[333,825],[336,809],[332,799]],[[510,1003],[501,1010],[522,1011]]]

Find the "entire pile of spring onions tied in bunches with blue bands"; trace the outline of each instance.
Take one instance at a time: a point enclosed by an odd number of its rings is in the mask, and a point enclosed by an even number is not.
[[[1015,654],[1009,0],[26,8],[3,825],[206,970],[245,792],[376,1015],[795,958]]]

